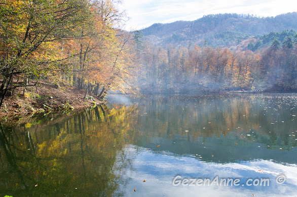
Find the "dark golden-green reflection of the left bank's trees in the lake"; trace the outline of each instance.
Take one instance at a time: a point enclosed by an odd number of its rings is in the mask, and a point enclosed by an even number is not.
[[[68,116],[20,120],[12,127],[4,123],[0,193],[121,194],[119,184],[126,183],[116,172],[131,164],[118,151],[137,137],[133,124],[126,120],[130,113],[137,113],[137,109],[99,106]],[[121,158],[122,164],[116,166],[116,159]]]

